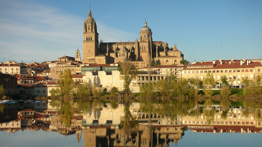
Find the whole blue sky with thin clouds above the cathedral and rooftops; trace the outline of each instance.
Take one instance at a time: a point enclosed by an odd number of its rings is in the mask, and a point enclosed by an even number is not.
[[[261,59],[262,1],[0,1],[0,61],[52,61],[83,53],[89,3],[99,40],[135,41],[144,21],[153,41],[188,61]]]

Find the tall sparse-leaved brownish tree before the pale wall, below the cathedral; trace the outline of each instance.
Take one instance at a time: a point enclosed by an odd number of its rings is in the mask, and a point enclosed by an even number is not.
[[[119,70],[121,72],[120,79],[124,80],[124,92],[130,94],[129,85],[132,79],[137,76],[137,67],[131,63],[130,60],[124,59],[123,62],[120,63]]]

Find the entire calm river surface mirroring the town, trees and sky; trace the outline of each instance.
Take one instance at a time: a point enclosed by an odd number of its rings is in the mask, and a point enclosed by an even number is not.
[[[261,146],[262,101],[0,101],[1,146]]]

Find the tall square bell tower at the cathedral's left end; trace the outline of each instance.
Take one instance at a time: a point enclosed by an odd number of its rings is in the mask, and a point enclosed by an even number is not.
[[[89,63],[92,58],[99,55],[98,33],[96,22],[92,18],[90,5],[88,18],[84,22],[84,40],[83,40],[83,63]]]

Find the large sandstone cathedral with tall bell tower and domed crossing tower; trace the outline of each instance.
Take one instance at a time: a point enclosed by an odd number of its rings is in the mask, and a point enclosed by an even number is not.
[[[145,20],[140,30],[139,39],[134,42],[103,42],[99,41],[96,22],[92,17],[90,6],[88,18],[84,22],[83,63],[110,64],[128,58],[139,67],[147,66],[152,58],[160,60],[161,65],[178,65],[183,54],[176,47],[168,46],[167,42],[153,41],[152,31]]]

